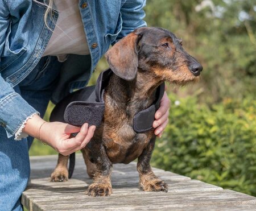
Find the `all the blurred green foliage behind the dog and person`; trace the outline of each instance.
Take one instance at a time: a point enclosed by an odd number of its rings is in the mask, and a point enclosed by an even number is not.
[[[256,0],[147,0],[145,11],[204,67],[199,83],[168,86],[170,123],[152,164],[256,196]],[[102,58],[89,84],[107,67]],[[30,155],[46,154],[56,152],[35,141]]]

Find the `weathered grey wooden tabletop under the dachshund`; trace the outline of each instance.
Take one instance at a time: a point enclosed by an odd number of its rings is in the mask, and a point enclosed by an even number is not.
[[[111,196],[89,197],[85,190],[92,180],[81,154],[76,155],[72,179],[64,183],[49,181],[56,161],[57,156],[31,157],[31,181],[22,195],[28,210],[256,210],[253,196],[156,168],[169,185],[168,193],[140,191],[136,163],[114,165]]]

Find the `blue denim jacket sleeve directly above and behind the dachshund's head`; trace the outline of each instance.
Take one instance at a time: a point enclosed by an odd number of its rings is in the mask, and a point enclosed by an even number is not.
[[[146,0],[126,1],[121,7],[122,15],[122,31],[118,34],[115,43],[134,31],[136,28],[147,26],[143,20],[145,13],[143,7],[146,5]]]

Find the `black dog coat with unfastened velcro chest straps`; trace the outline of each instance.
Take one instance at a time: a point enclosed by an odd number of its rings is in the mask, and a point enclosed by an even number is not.
[[[100,74],[96,86],[87,86],[60,101],[53,109],[50,121],[67,122],[81,127],[84,123],[100,126],[104,117],[104,91],[110,76],[114,74],[108,69]],[[155,102],[145,110],[139,111],[133,119],[133,129],[144,133],[152,129],[155,111],[159,109],[160,100],[164,94],[164,83],[156,89]]]

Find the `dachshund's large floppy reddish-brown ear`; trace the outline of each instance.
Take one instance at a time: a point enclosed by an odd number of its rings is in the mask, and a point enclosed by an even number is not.
[[[141,35],[135,33],[135,31],[131,32],[125,38],[115,43],[105,54],[110,69],[112,69],[115,75],[124,80],[133,80],[137,74],[137,43],[140,38]]]

